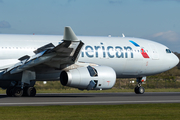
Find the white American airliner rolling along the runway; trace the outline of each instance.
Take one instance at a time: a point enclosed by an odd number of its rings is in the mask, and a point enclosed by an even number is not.
[[[146,76],[167,71],[178,57],[160,43],[133,37],[0,34],[0,87],[7,96],[35,96],[36,81],[60,81],[79,90],[106,90],[116,78],[137,78],[143,94]]]

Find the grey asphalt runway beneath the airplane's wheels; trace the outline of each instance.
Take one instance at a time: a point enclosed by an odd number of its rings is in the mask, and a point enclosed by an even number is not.
[[[52,93],[35,97],[7,97],[0,94],[0,106],[117,105],[180,103],[180,92],[135,93]]]

